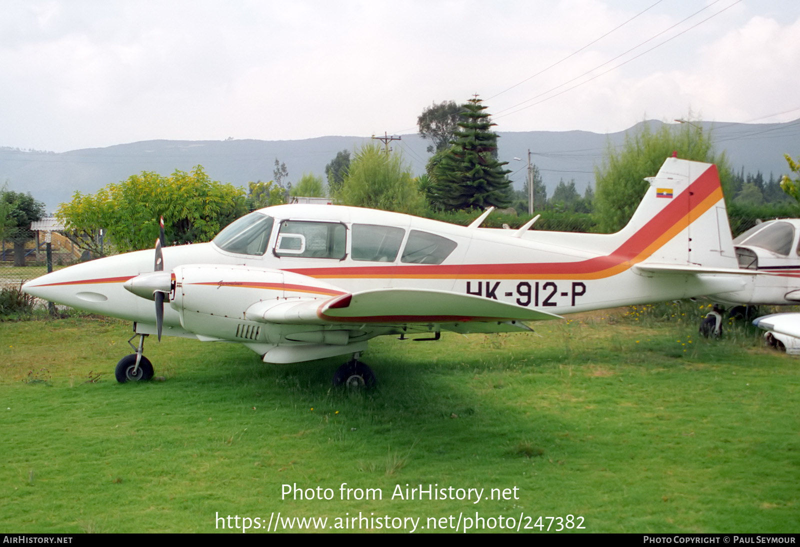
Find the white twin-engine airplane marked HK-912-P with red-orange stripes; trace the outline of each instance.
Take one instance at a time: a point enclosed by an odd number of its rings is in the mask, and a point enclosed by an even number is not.
[[[234,341],[268,363],[352,354],[336,384],[372,384],[384,334],[530,331],[559,313],[741,290],[716,166],[668,158],[617,234],[455,226],[345,206],[257,210],[213,242],[85,262],[29,281],[36,297],[134,321],[118,381],[146,380],[144,337]],[[535,220],[535,219],[534,219]],[[156,302],[155,313],[153,301]],[[164,306],[164,301],[169,305]]]

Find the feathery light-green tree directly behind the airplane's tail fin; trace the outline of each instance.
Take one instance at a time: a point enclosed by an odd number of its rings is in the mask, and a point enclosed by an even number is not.
[[[679,126],[665,124],[655,132],[644,124],[638,134],[626,135],[622,150],[609,144],[602,166],[594,170],[594,215],[598,231],[622,230],[650,186],[644,179],[657,174],[674,151],[678,158],[717,164],[722,190],[727,199],[733,198],[728,191],[730,167],[724,153],[714,154],[710,132],[704,133],[694,122]]]

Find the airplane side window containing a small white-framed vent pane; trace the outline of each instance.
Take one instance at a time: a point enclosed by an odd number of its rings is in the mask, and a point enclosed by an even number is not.
[[[276,257],[345,258],[345,225],[338,222],[283,221]]]

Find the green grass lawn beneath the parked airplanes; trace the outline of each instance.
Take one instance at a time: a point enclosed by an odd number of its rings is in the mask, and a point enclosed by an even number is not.
[[[586,532],[796,532],[800,361],[742,326],[698,340],[681,313],[384,337],[362,356],[378,387],[354,393],[330,385],[340,359],[266,365],[178,338],[146,343],[165,381],[119,385],[130,325],[0,323],[0,529],[213,532],[218,515],[281,512],[335,530],[360,512],[426,532],[477,512],[521,531],[573,515]],[[382,499],[342,501],[342,483]],[[334,497],[282,499],[295,484]],[[392,499],[406,484],[484,498]]]

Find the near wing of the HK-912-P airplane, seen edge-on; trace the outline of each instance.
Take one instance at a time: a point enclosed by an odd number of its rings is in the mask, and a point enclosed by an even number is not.
[[[428,289],[371,289],[321,299],[261,301],[245,312],[251,321],[289,325],[414,325],[504,323],[560,319],[554,313]],[[518,329],[518,328],[515,328]],[[462,331],[462,329],[458,329]],[[471,329],[469,332],[482,332]],[[490,330],[489,332],[498,332]]]

